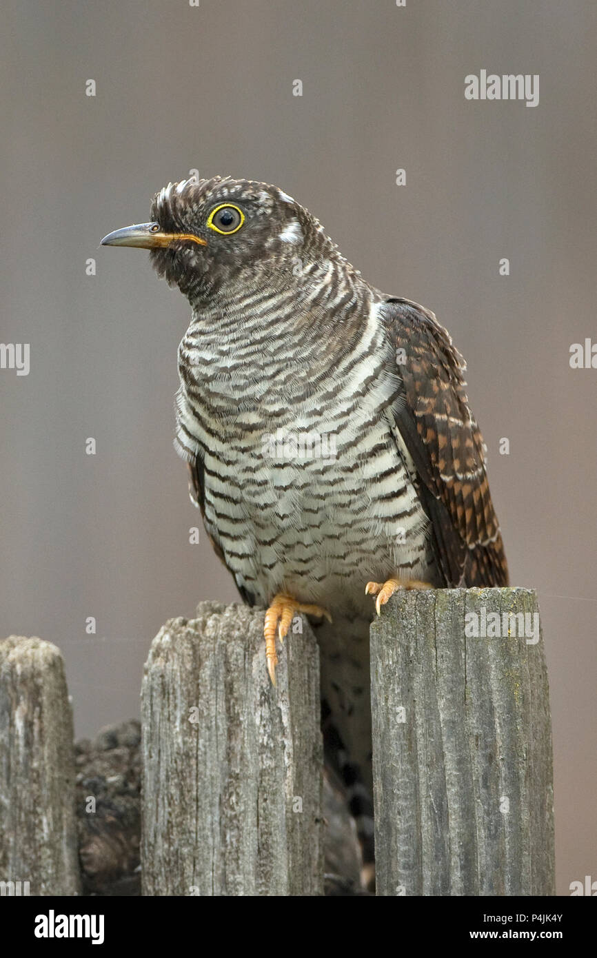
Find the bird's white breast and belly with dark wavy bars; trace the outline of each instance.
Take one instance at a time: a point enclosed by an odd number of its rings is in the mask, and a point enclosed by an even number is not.
[[[284,298],[267,302],[275,337],[259,304],[256,292],[225,340],[221,320],[215,337],[206,318],[183,339],[176,445],[203,458],[205,523],[241,589],[259,604],[284,590],[332,615],[365,614],[368,580],[397,569],[424,578],[430,561],[414,469],[388,409],[396,383],[379,305],[368,304],[333,369],[311,363],[306,380],[305,357],[285,349]]]

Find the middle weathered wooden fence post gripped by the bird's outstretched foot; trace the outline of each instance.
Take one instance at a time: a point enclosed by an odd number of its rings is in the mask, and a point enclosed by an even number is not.
[[[142,691],[144,895],[321,895],[319,658],[305,620],[267,675],[264,612],[201,603]]]

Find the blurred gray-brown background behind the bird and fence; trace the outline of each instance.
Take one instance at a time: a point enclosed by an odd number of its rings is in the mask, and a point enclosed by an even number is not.
[[[512,581],[539,590],[559,893],[597,879],[597,369],[568,362],[597,340],[596,25],[594,0],[3,5],[0,340],[31,372],[0,371],[0,634],[63,650],[79,735],[137,716],[167,618],[237,599],[172,449],[187,302],[99,241],[195,168],[276,183],[469,362]],[[540,104],[465,100],[481,69],[540,74]]]

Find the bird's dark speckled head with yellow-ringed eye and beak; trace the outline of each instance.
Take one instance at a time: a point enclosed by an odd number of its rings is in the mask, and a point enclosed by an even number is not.
[[[310,213],[278,187],[251,180],[169,183],[153,197],[149,223],[104,237],[104,246],[149,249],[160,276],[193,302],[235,281],[297,274],[297,263],[329,239]],[[315,256],[313,256],[315,254]]]

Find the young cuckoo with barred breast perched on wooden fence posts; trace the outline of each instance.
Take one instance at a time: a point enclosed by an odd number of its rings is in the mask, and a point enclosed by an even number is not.
[[[174,445],[242,600],[265,609],[273,684],[295,617],[315,627],[324,747],[371,881],[371,622],[397,590],[508,584],[465,361],[277,186],[169,183],[102,244],[148,249],[189,301]]]

